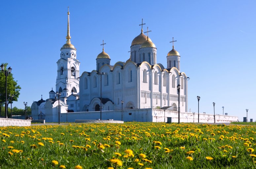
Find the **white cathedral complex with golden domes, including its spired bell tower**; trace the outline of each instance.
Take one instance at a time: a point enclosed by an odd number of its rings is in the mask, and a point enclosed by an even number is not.
[[[80,62],[76,56],[76,48],[70,41],[69,12],[67,14],[67,41],[60,48],[60,58],[57,61],[55,91],[58,95],[52,89],[49,92],[49,99],[41,98],[33,102],[32,116],[43,115],[46,121],[56,122],[58,109],[61,113],[67,114],[96,113],[100,109],[143,111],[162,107],[170,107],[169,109],[177,111],[178,85],[180,112],[187,112],[189,78],[184,72],[180,72],[180,54],[172,46],[172,49],[166,52],[167,67],[157,63],[157,48],[152,40],[143,34],[143,20],[140,24],[141,33],[132,40],[130,57],[126,62],[111,64],[110,56],[104,50],[103,41],[102,52],[95,56],[96,70],[83,72],[80,76]]]

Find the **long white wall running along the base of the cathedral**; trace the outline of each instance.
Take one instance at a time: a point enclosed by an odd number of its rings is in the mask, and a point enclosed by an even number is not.
[[[172,122],[178,122],[178,112],[162,109],[128,109],[123,110],[123,121],[138,122],[167,122],[167,117],[172,118]],[[47,118],[46,118],[47,119]],[[58,118],[57,118],[58,119]],[[60,122],[75,122],[75,120],[98,120],[100,119],[100,111],[89,112],[70,112],[60,113]],[[122,110],[102,111],[102,120],[122,120]],[[238,116],[215,115],[216,123],[235,122]],[[51,121],[46,121],[51,122]],[[57,121],[55,121],[57,122]],[[180,113],[180,122],[198,122],[198,113],[182,112]],[[214,123],[213,114],[199,114],[200,123]]]

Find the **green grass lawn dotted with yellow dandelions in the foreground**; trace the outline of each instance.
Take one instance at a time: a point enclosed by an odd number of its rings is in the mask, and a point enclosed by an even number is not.
[[[250,156],[256,127],[251,125],[128,122],[0,127],[0,132],[0,168],[256,168],[256,157]]]

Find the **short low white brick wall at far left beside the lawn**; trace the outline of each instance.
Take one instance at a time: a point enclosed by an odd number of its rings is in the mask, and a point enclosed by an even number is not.
[[[0,118],[0,126],[30,126],[31,120]]]

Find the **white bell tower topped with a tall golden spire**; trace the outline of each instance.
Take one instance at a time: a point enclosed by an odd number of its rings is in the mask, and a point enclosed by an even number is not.
[[[69,8],[66,43],[60,48],[60,59],[57,61],[56,92],[61,93],[60,98],[65,98],[71,94],[79,93],[79,66],[76,59],[76,48],[71,44],[69,32]]]

